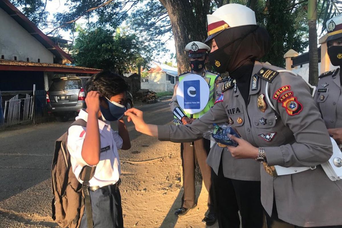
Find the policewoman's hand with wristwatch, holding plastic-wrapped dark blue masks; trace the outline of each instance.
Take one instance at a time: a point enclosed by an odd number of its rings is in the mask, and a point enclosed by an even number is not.
[[[258,157],[258,148],[247,142],[245,139],[238,138],[234,135],[228,135],[232,140],[237,142],[237,147],[227,146],[229,152],[231,152],[234,158],[252,158]]]

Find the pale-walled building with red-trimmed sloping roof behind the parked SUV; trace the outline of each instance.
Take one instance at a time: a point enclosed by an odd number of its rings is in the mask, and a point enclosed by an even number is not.
[[[10,1],[0,0],[0,91],[15,95],[49,89],[54,77],[90,76],[100,69],[73,66],[73,59]],[[53,39],[53,40],[51,40]]]

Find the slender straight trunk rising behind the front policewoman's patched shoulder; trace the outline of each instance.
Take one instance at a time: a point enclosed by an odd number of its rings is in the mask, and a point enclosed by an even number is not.
[[[307,19],[309,25],[309,83],[318,83],[317,49],[317,0],[308,0]]]

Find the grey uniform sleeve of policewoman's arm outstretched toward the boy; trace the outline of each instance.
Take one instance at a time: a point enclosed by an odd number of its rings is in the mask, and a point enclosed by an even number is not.
[[[158,139],[171,141],[174,143],[192,142],[203,137],[203,133],[208,131],[208,127],[213,123],[227,121],[227,115],[223,107],[223,102],[215,104],[208,112],[191,124],[158,126]]]

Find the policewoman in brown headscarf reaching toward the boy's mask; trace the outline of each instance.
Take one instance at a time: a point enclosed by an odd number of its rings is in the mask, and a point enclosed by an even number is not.
[[[219,175],[222,161],[226,179],[254,179],[255,166],[260,167],[268,228],[341,227],[342,182],[331,181],[320,166],[331,157],[332,145],[309,86],[289,71],[258,61],[267,51],[268,35],[246,6],[226,4],[208,15],[208,32],[210,63],[218,72],[227,70],[236,84],[224,86],[223,98],[190,125],[146,124],[136,109],[126,112],[129,120],[138,131],[173,142],[200,137],[212,123],[229,122],[241,135],[232,136],[239,145],[215,146],[207,162]],[[228,188],[227,183],[213,182],[215,188]],[[248,197],[246,191],[235,194]],[[242,227],[257,227],[251,225],[257,211],[246,215],[238,203],[241,217],[250,219],[244,226],[242,218]]]

